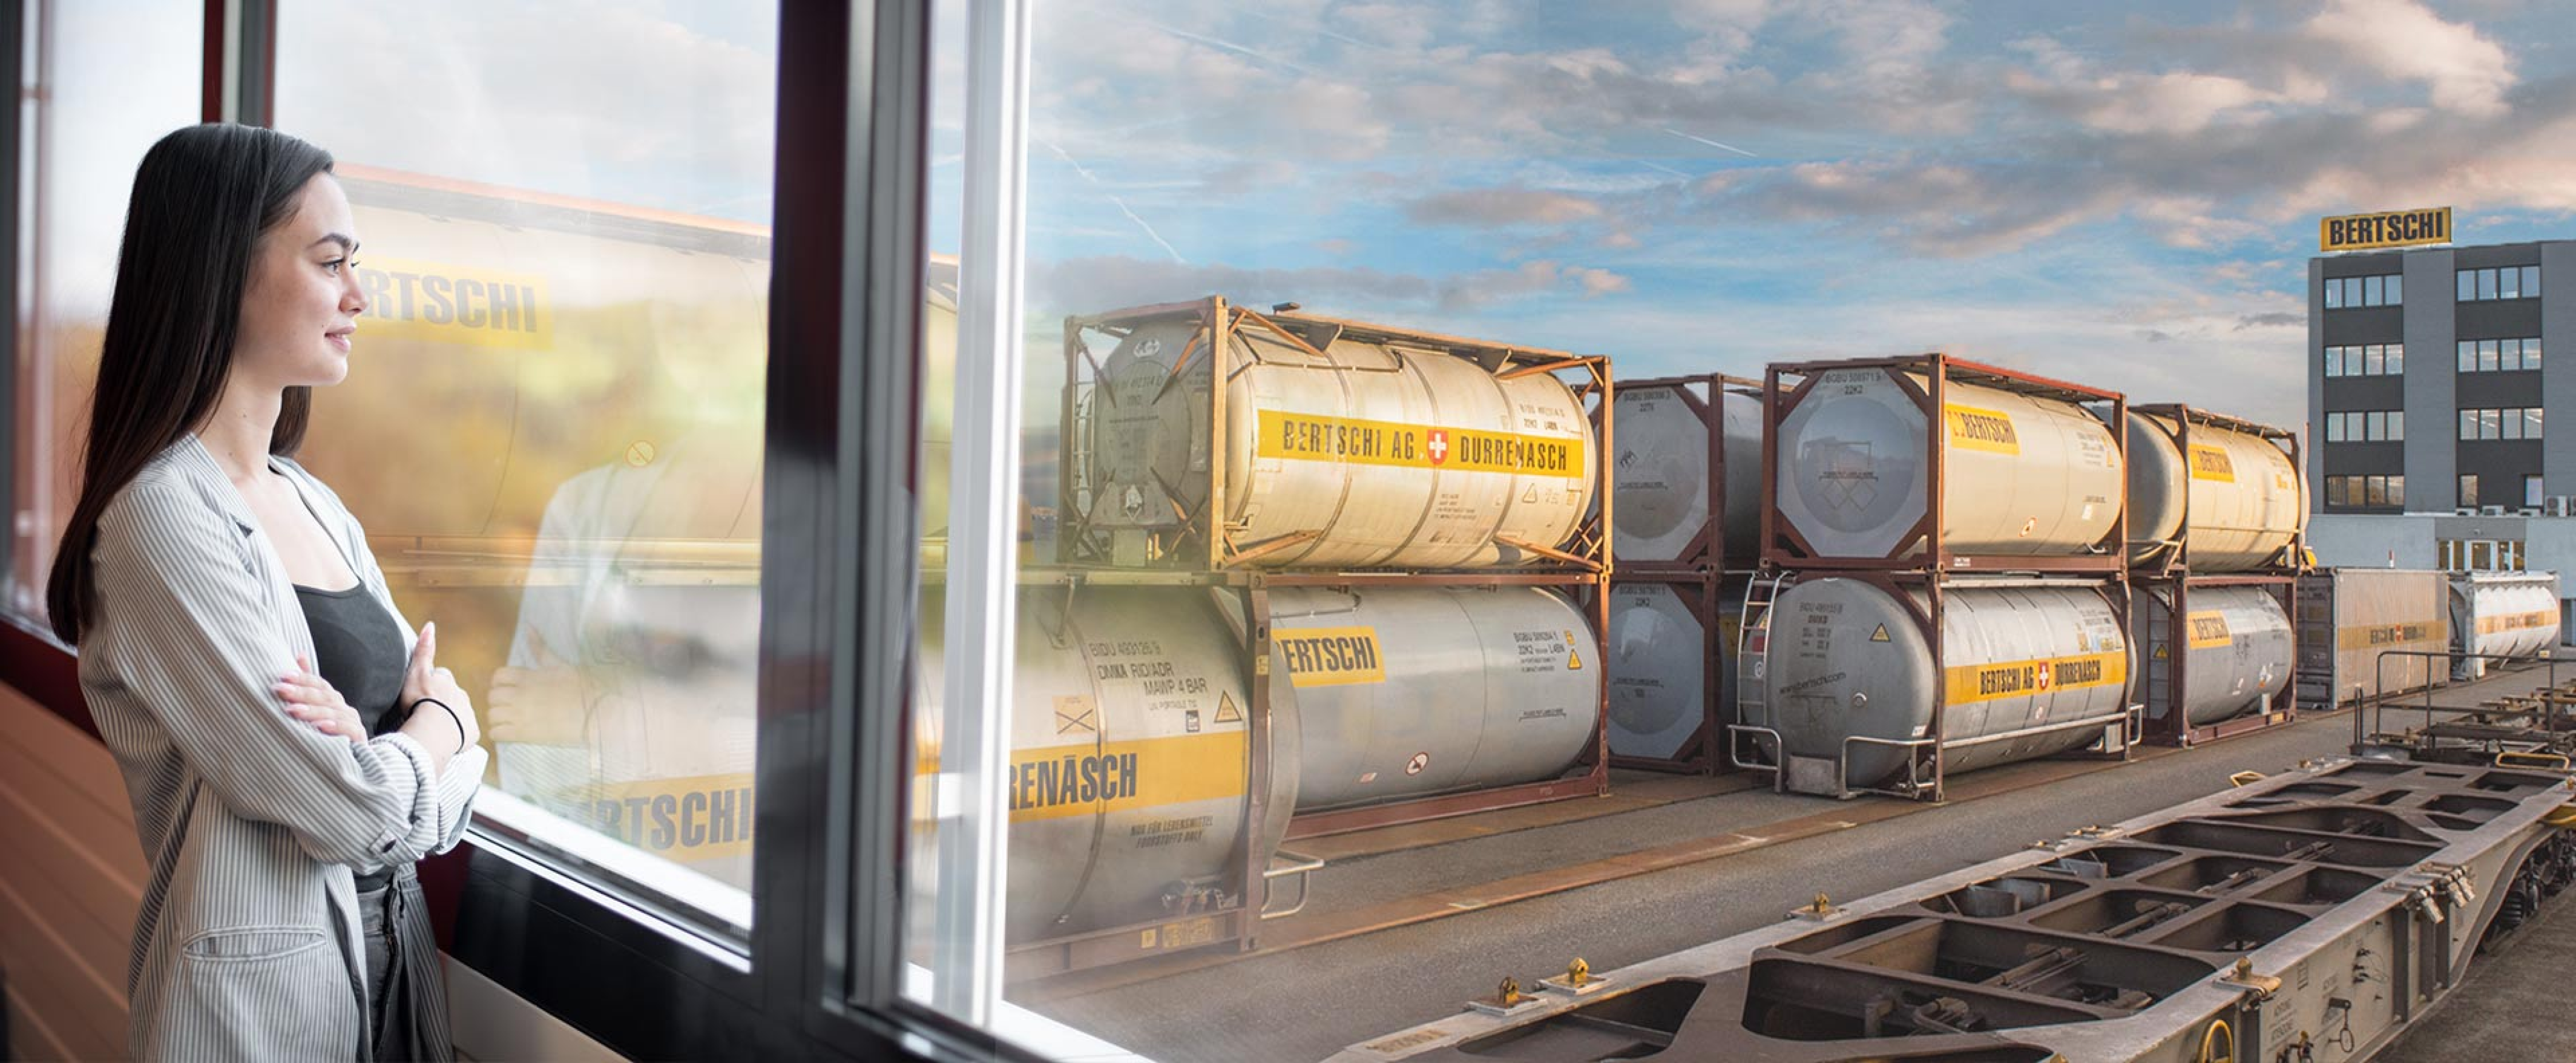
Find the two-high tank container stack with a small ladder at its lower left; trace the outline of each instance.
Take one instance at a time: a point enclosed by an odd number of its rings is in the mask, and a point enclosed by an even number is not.
[[[1942,800],[2032,756],[2125,756],[2125,402],[1958,361],[1775,364],[1736,764]]]

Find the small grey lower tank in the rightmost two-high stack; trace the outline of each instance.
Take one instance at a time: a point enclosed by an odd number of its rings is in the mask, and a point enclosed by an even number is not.
[[[2244,715],[2290,686],[2298,658],[2290,614],[2262,588],[2192,588],[2179,645],[2169,635],[2169,586],[2133,583],[2130,609],[2130,645],[2138,650],[2130,668],[2148,720],[2174,710],[2166,681],[2174,653],[2184,653],[2182,717],[2195,728]]]

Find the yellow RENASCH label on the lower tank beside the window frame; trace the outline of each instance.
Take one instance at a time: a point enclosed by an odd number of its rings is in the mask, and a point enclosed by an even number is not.
[[[1010,820],[1126,813],[1244,795],[1244,730],[1010,753]]]

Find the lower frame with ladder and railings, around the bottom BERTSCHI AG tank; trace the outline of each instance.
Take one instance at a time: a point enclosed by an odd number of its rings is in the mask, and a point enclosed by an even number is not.
[[[1947,797],[1947,787],[1950,787],[1950,764],[1947,761],[1950,759],[1945,756],[1947,717],[1950,717],[1950,684],[1945,681],[1945,676],[1950,671],[1950,653],[1942,645],[1942,614],[1945,614],[1945,606],[1947,606],[1947,591],[2012,588],[2012,586],[2066,586],[2066,588],[2092,586],[2092,588],[2099,588],[2105,593],[2105,604],[2112,609],[2112,617],[2115,617],[2115,622],[2120,627],[2120,640],[2125,645],[2136,645],[2136,637],[2130,632],[2130,619],[2128,619],[2130,617],[2128,614],[2130,596],[2128,596],[2128,581],[2125,578],[2089,578],[2089,575],[2035,575],[2035,578],[2032,575],[1950,575],[1950,573],[1935,573],[1935,570],[1906,570],[1906,573],[1899,573],[1899,570],[1862,568],[1862,570],[1793,570],[1793,573],[1785,573],[1788,581],[1780,588],[1785,591],[1788,583],[1793,583],[1795,578],[1801,578],[1806,573],[1814,573],[1816,578],[1850,578],[1850,581],[1860,581],[1860,583],[1875,586],[1886,596],[1896,599],[1899,606],[1904,606],[1906,617],[1914,622],[1914,630],[1922,632],[1924,645],[1932,650],[1932,676],[1935,676],[1935,681],[1932,681],[1932,728],[1924,733],[1924,738],[1914,738],[1914,740],[1906,740],[1906,743],[1886,743],[1886,746],[1906,746],[1909,748],[1909,753],[1906,753],[1906,782],[1899,782],[1893,787],[1852,787],[1850,779],[1844,779],[1839,784],[1839,790],[1842,790],[1839,797],[1886,795],[1886,797],[1906,797],[1906,800],[1929,800],[1935,805],[1950,800]],[[1775,578],[1775,575],[1783,575],[1783,573],[1765,570],[1757,578]],[[1922,591],[1927,601],[1917,604],[1911,591]],[[1772,596],[1772,601],[1777,601],[1777,593]],[[1765,622],[1762,622],[1762,655],[1770,658],[1770,617],[1765,617]],[[2120,702],[2123,702],[2120,707],[2123,707],[2123,717],[2125,720],[2120,722],[2123,740],[2120,740],[2117,751],[2069,751],[2069,753],[2058,753],[2058,756],[2061,759],[2120,759],[2120,761],[2128,761],[2130,759],[2130,748],[2136,748],[2138,740],[2141,740],[2138,722],[2141,722],[2143,712],[2138,707],[2138,699],[2133,699],[2133,697],[2123,697]],[[1765,704],[1762,712],[1765,712],[1765,720],[1767,720],[1770,704]],[[2061,728],[2040,728],[2040,733],[2045,733],[2045,730],[2076,730],[2079,725],[2089,728],[2089,725],[2107,725],[2107,722],[2102,717],[2087,717],[2087,720],[2076,720],[2076,722],[2061,725]],[[1752,764],[1752,761],[1744,761],[1741,756],[1734,756],[1734,753],[1739,753],[1744,748],[1744,738],[1747,738],[1749,730],[1759,733],[1759,730],[1772,730],[1772,728],[1744,728],[1744,725],[1739,725],[1739,728],[1731,728],[1731,730],[1734,733],[1728,735],[1728,753],[1731,753],[1728,759],[1736,766],[1741,766],[1741,769],[1772,771],[1772,790],[1775,792],[1788,792],[1788,748],[1785,748],[1785,743],[1780,746],[1780,761],[1783,764]],[[1989,735],[1984,740],[1991,740],[1991,738],[1994,735]],[[1777,730],[1772,730],[1772,740],[1775,743],[1780,740]],[[1839,764],[1842,761],[1837,759],[1837,771],[1839,771]],[[1927,784],[1917,784],[1914,782],[1914,779],[1919,779],[1924,774],[1922,769],[1929,769],[1929,782]]]

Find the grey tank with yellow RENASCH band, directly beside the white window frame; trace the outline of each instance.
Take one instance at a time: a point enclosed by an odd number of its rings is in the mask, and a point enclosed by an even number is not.
[[[1208,591],[1084,586],[1072,609],[1064,593],[1028,588],[1018,604],[1012,942],[1167,916],[1167,895],[1224,880],[1244,833],[1252,676]],[[914,712],[938,720],[943,609],[922,599]],[[1280,764],[1296,764],[1296,689],[1273,686],[1273,720]],[[925,764],[938,761],[935,733]],[[1270,818],[1252,839],[1262,854],[1288,831],[1296,792],[1298,771],[1270,771]],[[917,864],[933,864],[935,826],[920,813],[914,823],[930,831]]]

